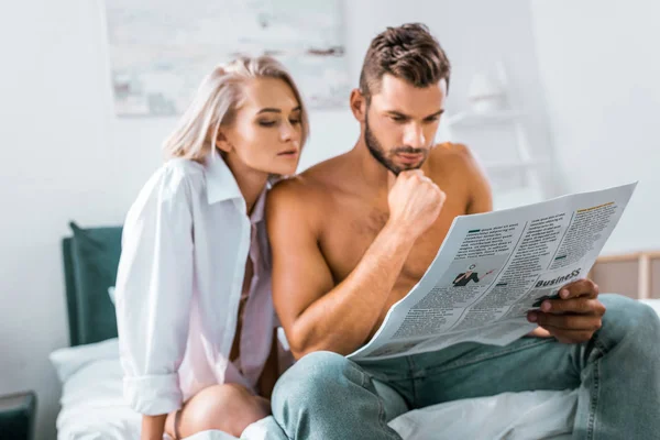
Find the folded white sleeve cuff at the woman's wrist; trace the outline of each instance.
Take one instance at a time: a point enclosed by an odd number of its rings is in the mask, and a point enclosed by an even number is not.
[[[124,377],[123,388],[131,408],[145,416],[169,414],[183,404],[177,374]]]

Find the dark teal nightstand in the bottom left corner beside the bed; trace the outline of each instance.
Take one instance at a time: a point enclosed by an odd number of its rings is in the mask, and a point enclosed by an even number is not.
[[[32,440],[35,413],[34,392],[0,396],[0,439]]]

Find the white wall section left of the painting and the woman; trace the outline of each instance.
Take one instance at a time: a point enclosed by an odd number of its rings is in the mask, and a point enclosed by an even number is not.
[[[95,2],[0,6],[0,394],[38,393],[54,438],[68,343],[59,239],[67,221],[114,224],[158,164],[167,121],[117,121]]]

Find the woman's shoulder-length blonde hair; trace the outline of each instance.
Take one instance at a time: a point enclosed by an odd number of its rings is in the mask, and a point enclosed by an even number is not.
[[[307,108],[290,74],[270,56],[240,57],[216,67],[202,80],[190,107],[165,140],[166,157],[201,162],[212,151],[220,127],[232,123],[243,100],[242,84],[252,78],[277,78],[288,84],[300,105],[300,145],[305,145],[309,135]]]

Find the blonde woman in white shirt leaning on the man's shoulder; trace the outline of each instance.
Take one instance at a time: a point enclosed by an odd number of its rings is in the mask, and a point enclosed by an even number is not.
[[[202,82],[165,142],[169,160],[124,224],[117,320],[124,395],[142,439],[239,437],[277,378],[265,193],[308,134],[292,77],[241,58]]]

